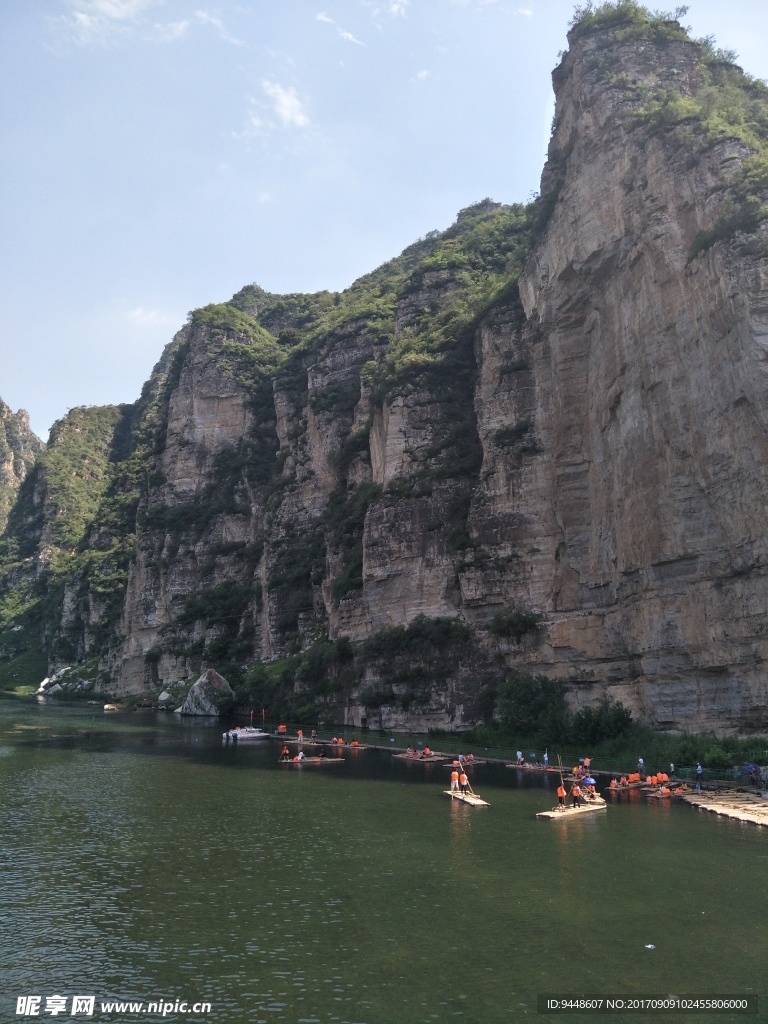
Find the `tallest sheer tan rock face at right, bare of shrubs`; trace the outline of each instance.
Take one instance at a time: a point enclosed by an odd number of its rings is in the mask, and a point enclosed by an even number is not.
[[[559,198],[520,281],[536,658],[654,724],[764,729],[765,228],[691,258],[749,150],[649,130],[649,89],[705,88],[689,41],[588,35],[554,81]]]

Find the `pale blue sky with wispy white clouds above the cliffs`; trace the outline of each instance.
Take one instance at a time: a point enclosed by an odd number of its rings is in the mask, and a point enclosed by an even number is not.
[[[190,309],[341,291],[472,203],[527,202],[573,8],[3,0],[0,398],[45,440],[134,401]],[[765,0],[681,20],[768,78]]]

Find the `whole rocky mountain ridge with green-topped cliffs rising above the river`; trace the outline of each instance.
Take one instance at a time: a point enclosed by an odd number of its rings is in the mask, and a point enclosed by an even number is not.
[[[768,728],[768,87],[633,2],[568,43],[534,203],[197,309],[134,406],[57,426],[2,541],[7,665],[42,640],[114,694],[215,667],[392,729],[530,673]]]

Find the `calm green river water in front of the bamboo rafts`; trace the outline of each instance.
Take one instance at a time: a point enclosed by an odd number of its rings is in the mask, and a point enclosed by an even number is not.
[[[743,1019],[766,1019],[768,829],[639,797],[539,820],[532,774],[474,769],[476,809],[436,765],[286,768],[220,732],[0,699],[0,1020],[501,1024],[584,992],[759,993]],[[93,1015],[43,1013],[53,994]]]

